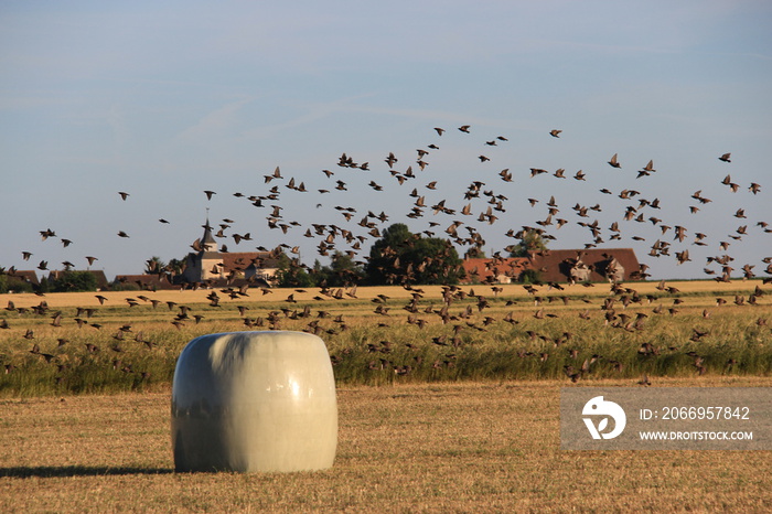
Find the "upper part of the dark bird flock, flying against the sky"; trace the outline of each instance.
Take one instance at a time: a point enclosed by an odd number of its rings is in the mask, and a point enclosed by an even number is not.
[[[458,128],[462,133],[472,133],[472,127],[464,125]],[[737,227],[733,232],[728,234],[711,234],[708,235],[707,231],[695,229],[690,232],[688,228],[687,216],[685,212],[680,211],[682,206],[672,206],[678,211],[673,211],[671,213],[671,219],[665,219],[665,215],[662,214],[663,203],[658,197],[645,197],[639,189],[633,189],[631,186],[622,188],[619,191],[612,191],[604,186],[597,190],[598,192],[609,195],[611,199],[619,199],[622,202],[615,202],[610,208],[620,208],[618,215],[611,216],[612,219],[608,222],[608,226],[603,226],[600,219],[601,212],[607,211],[607,202],[601,205],[596,202],[593,205],[582,204],[580,188],[582,183],[588,181],[588,175],[590,172],[585,172],[583,170],[578,170],[573,173],[566,171],[564,168],[559,168],[555,171],[548,171],[544,168],[529,168],[529,171],[523,173],[523,178],[516,178],[515,172],[505,168],[498,172],[491,171],[489,162],[494,158],[489,157],[484,153],[480,153],[479,161],[485,165],[478,170],[471,170],[468,173],[469,182],[465,190],[458,193],[458,196],[448,196],[451,193],[449,191],[450,186],[458,183],[458,178],[451,176],[443,179],[438,176],[436,173],[430,176],[431,180],[428,182],[423,179],[423,175],[431,174],[430,157],[433,153],[440,153],[440,141],[443,138],[448,138],[446,135],[446,129],[437,127],[435,128],[437,133],[437,140],[427,144],[423,148],[418,148],[416,150],[415,160],[410,160],[406,165],[400,163],[405,158],[397,157],[394,152],[389,152],[384,158],[384,162],[387,164],[387,172],[384,173],[383,167],[375,167],[371,162],[357,162],[352,156],[343,153],[339,158],[336,165],[340,171],[331,171],[330,169],[324,169],[321,171],[321,175],[312,176],[309,175],[305,179],[300,179],[296,176],[285,176],[280,168],[276,168],[272,173],[264,175],[265,189],[261,194],[247,194],[243,192],[233,193],[233,196],[239,200],[249,202],[254,207],[265,210],[267,213],[266,221],[269,231],[277,231],[277,236],[271,236],[270,233],[264,233],[260,236],[261,242],[268,242],[270,239],[279,239],[281,243],[274,249],[277,251],[288,251],[294,256],[300,255],[301,248],[309,245],[308,239],[312,239],[315,246],[315,251],[319,256],[331,257],[335,253],[341,253],[349,255],[358,265],[366,265],[367,255],[367,242],[371,244],[377,240],[382,236],[382,231],[387,226],[388,223],[394,223],[395,221],[407,221],[410,226],[422,225],[423,231],[421,231],[417,236],[436,236],[442,237],[451,240],[457,249],[461,250],[463,255],[474,256],[482,255],[491,246],[486,242],[486,234],[491,234],[492,226],[502,226],[503,229],[495,233],[496,242],[507,242],[511,245],[502,245],[504,248],[500,251],[494,251],[491,257],[506,257],[507,250],[512,249],[513,245],[523,238],[525,234],[533,233],[538,234],[543,240],[549,243],[550,240],[557,239],[558,231],[560,231],[566,225],[576,223],[577,226],[587,231],[588,237],[583,242],[585,248],[603,247],[604,245],[619,245],[624,239],[625,232],[645,232],[652,233],[655,237],[650,235],[642,236],[639,234],[633,234],[628,236],[625,244],[635,245],[636,248],[646,248],[648,256],[654,258],[660,257],[675,257],[678,264],[685,264],[691,261],[690,250],[695,247],[706,247],[711,246],[716,249],[716,254],[709,256],[706,259],[704,272],[709,275],[717,280],[729,280],[732,272],[737,269],[741,269],[743,276],[751,278],[755,276],[759,271],[760,265],[766,265],[764,272],[766,275],[772,274],[772,266],[770,266],[770,257],[763,257],[759,263],[735,263],[735,259],[730,255],[729,247],[733,244],[738,244],[743,239],[759,235],[772,233],[772,226],[765,219],[755,219],[753,222],[748,221],[748,214],[746,207],[740,207],[731,213],[717,213],[711,212],[709,214],[709,219],[707,224],[716,225],[719,217],[722,216],[733,216],[737,219]],[[561,130],[555,129],[549,132],[549,135],[556,139],[559,139],[562,135]],[[486,139],[486,138],[484,138]],[[484,147],[495,148],[500,144],[508,142],[508,138],[504,136],[496,136],[490,140],[484,141]],[[731,163],[731,153],[723,153],[718,157],[718,159],[729,164]],[[614,153],[608,161],[608,165],[615,170],[622,170],[622,163],[619,159],[618,153]],[[346,171],[343,171],[346,170]],[[358,172],[358,173],[357,173]],[[643,184],[645,179],[657,173],[653,160],[648,160],[647,163],[642,165],[634,174],[635,185]],[[596,173],[600,175],[600,173]],[[564,192],[571,199],[573,205],[565,206],[560,204],[556,197],[557,194],[550,194],[549,199],[537,199],[528,197],[527,203],[522,199],[510,200],[513,194],[523,194],[525,191],[538,190],[533,186],[533,183],[523,182],[522,179],[529,176],[534,181],[538,181],[540,175],[554,176],[555,179],[562,181],[575,181],[573,184],[555,184],[549,188],[550,191],[555,190],[557,192]],[[496,186],[492,182],[492,179],[500,181]],[[603,176],[603,183],[608,176]],[[639,182],[639,179],[644,179]],[[320,183],[323,180],[324,183]],[[443,185],[442,181],[451,183],[451,185]],[[704,184],[708,184],[708,178],[706,178]],[[318,188],[307,186],[305,182],[313,181]],[[386,181],[392,181],[388,183]],[[727,173],[720,181],[729,193],[738,193],[742,190],[747,190],[753,196],[759,195],[762,192],[762,185],[755,182],[749,182],[747,184],[740,184],[736,182],[731,173]],[[395,186],[395,183],[398,184]],[[511,185],[510,185],[511,184]],[[633,185],[633,184],[631,184]],[[667,184],[669,188],[671,184]],[[369,188],[375,193],[383,193],[383,199],[379,199],[377,194],[365,194],[363,189]],[[704,185],[705,189],[705,185]],[[711,203],[712,200],[706,197],[703,194],[703,190],[697,190],[690,195],[684,195],[686,203],[688,205],[688,212],[691,214],[698,213],[700,210],[706,208],[707,204]],[[267,190],[267,191],[266,191]],[[287,202],[282,200],[288,194],[287,191],[292,191],[294,193],[300,193],[304,195],[313,196],[312,201],[305,201],[304,199],[298,199],[297,196],[291,196]],[[590,196],[587,192],[587,197]],[[118,193],[120,199],[125,202],[130,201],[131,194],[126,191],[120,191]],[[208,201],[213,201],[215,195],[218,194],[216,191],[206,190],[204,191],[205,197]],[[326,205],[326,197],[335,197],[337,200],[346,200],[347,202],[341,202],[334,205],[333,210],[324,210],[323,212],[313,212],[310,214],[310,223],[301,223],[297,219],[288,219],[287,214],[292,213],[297,215],[299,211],[296,205],[298,203],[313,204],[315,203],[318,208]],[[409,200],[408,200],[409,199]],[[405,202],[407,203],[407,212],[395,212],[395,210],[403,208]],[[522,202],[515,204],[516,202]],[[282,205],[283,203],[283,205]],[[360,205],[366,205],[367,207],[362,208]],[[758,205],[762,203],[757,202]],[[544,205],[546,210],[542,214],[524,214],[526,205],[533,211],[538,211],[539,205]],[[389,212],[386,212],[388,207]],[[515,214],[507,214],[515,210]],[[572,212],[572,213],[571,213]],[[431,219],[428,223],[419,222],[419,218],[428,217],[431,214]],[[769,214],[769,210],[768,210]],[[335,219],[335,216],[337,219]],[[519,227],[512,225],[512,218],[525,218],[525,217],[536,217],[534,225],[522,225]],[[610,216],[607,214],[605,218],[609,219]],[[326,223],[324,223],[326,222]],[[169,224],[170,222],[165,218],[159,218],[159,223]],[[217,237],[229,239],[233,238],[234,246],[238,246],[243,242],[250,242],[251,231],[244,234],[233,233],[226,235],[226,231],[233,227],[235,222],[229,218],[225,218],[219,223],[219,231],[217,232]],[[705,221],[703,221],[705,223]],[[752,223],[752,224],[751,224]],[[626,226],[625,226],[626,224]],[[645,227],[645,228],[644,228]],[[566,231],[564,229],[564,233]],[[577,231],[569,231],[576,234]],[[116,231],[118,237],[128,238],[130,235],[126,231]],[[300,236],[304,239],[300,239]],[[51,228],[40,231],[40,235],[43,240],[54,239],[57,237],[56,232]],[[504,238],[504,239],[503,239]],[[292,239],[293,244],[287,244],[287,240]],[[654,239],[654,240],[652,240]],[[73,242],[65,237],[58,237],[58,240],[64,248],[68,248],[73,245]],[[677,246],[676,247],[676,243]],[[644,246],[644,243],[647,246]],[[762,240],[759,246],[763,247],[765,242]],[[228,245],[223,244],[223,251],[228,250]],[[269,249],[265,246],[258,246],[257,249],[262,251],[268,251]],[[25,261],[33,257],[32,251],[22,251],[22,257]],[[86,256],[85,259],[88,266],[93,266],[96,260],[95,256]],[[305,266],[303,263],[299,263],[296,259],[296,264],[299,266]],[[64,269],[77,268],[77,266],[71,261],[65,260],[62,263]],[[40,260],[37,267],[39,270],[49,270],[49,260]],[[647,278],[646,274],[642,275],[643,278]],[[8,274],[13,274],[14,267],[0,268],[0,271]]]

